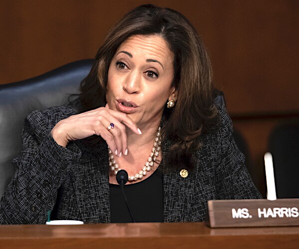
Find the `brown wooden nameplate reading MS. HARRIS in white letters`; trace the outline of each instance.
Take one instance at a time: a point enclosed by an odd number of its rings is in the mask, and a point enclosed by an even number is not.
[[[211,228],[299,226],[299,199],[208,201]]]

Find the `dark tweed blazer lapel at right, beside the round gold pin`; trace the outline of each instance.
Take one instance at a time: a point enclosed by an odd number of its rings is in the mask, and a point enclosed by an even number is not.
[[[170,145],[170,141],[162,144],[163,158],[169,156]],[[164,222],[187,222],[196,174],[188,171],[188,176],[183,178],[180,176],[183,166],[169,164],[164,159],[162,163],[167,163],[166,168],[170,169],[163,174]]]

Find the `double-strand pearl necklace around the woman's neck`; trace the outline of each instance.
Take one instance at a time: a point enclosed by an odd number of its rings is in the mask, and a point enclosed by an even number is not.
[[[159,151],[161,150],[161,127],[158,128],[156,137],[154,139],[153,147],[151,149],[151,153],[149,154],[148,161],[143,166],[142,170],[140,170],[135,175],[130,176],[129,175],[129,181],[137,181],[139,179],[142,179],[143,176],[147,174],[148,171],[151,170],[151,167],[153,166],[153,163],[156,161],[156,158],[159,155]],[[108,146],[108,154],[109,154],[109,166],[112,171],[114,171],[114,174],[116,175],[117,172],[120,170],[119,165],[117,164],[114,155],[112,154],[111,149]]]

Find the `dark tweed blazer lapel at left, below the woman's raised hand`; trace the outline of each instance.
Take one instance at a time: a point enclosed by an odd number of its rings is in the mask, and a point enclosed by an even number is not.
[[[84,223],[109,223],[108,148],[98,143],[74,166],[74,189]],[[82,153],[84,154],[84,153]]]

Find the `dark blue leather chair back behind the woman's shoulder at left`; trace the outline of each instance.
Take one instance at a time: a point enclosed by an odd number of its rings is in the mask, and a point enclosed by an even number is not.
[[[93,60],[76,61],[38,77],[0,85],[0,197],[13,174],[11,160],[20,153],[27,114],[64,105],[77,94]]]

